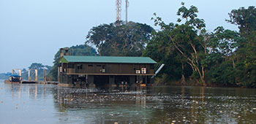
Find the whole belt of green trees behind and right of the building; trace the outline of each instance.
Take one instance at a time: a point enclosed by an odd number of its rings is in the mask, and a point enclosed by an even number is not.
[[[122,21],[91,28],[86,44],[70,47],[73,55],[148,56],[165,63],[157,83],[256,87],[256,9],[233,9],[227,23],[206,31],[197,18],[197,7],[181,3],[176,23],[165,23],[154,13],[151,20],[159,30],[142,23]],[[89,46],[88,44],[91,44]],[[94,49],[96,48],[96,50]],[[80,51],[80,52],[79,52]],[[97,52],[96,52],[97,51]],[[56,80],[59,52],[49,77]]]

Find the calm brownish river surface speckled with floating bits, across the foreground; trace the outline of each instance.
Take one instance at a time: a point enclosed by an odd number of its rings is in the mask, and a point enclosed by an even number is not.
[[[0,123],[256,123],[256,90],[66,88],[0,80]]]

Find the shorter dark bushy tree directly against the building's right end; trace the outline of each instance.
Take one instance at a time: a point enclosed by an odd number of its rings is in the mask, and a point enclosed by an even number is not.
[[[169,26],[169,28],[172,26]],[[166,26],[166,28],[168,28]],[[158,63],[165,63],[165,67],[160,71],[162,75],[162,81],[167,80],[178,80],[181,79],[182,74],[190,75],[191,71],[182,73],[181,69],[181,58],[178,58],[179,53],[176,52],[175,47],[173,47],[170,42],[170,37],[167,34],[170,34],[171,30],[161,30],[154,31],[151,34],[151,40],[146,46],[146,50],[143,51],[143,56],[148,56],[153,58]],[[186,68],[185,68],[186,69]]]

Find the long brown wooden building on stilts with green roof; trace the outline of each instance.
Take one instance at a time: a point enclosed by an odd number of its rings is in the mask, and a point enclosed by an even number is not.
[[[150,83],[153,61],[148,57],[71,56],[61,57],[59,82],[95,85]]]

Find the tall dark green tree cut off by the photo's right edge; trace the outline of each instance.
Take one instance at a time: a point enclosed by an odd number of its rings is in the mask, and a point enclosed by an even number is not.
[[[244,37],[241,47],[236,50],[236,58],[239,60],[239,71],[243,74],[238,76],[238,83],[246,87],[256,87],[256,8],[233,9],[230,13],[229,23],[238,26],[241,36]]]

